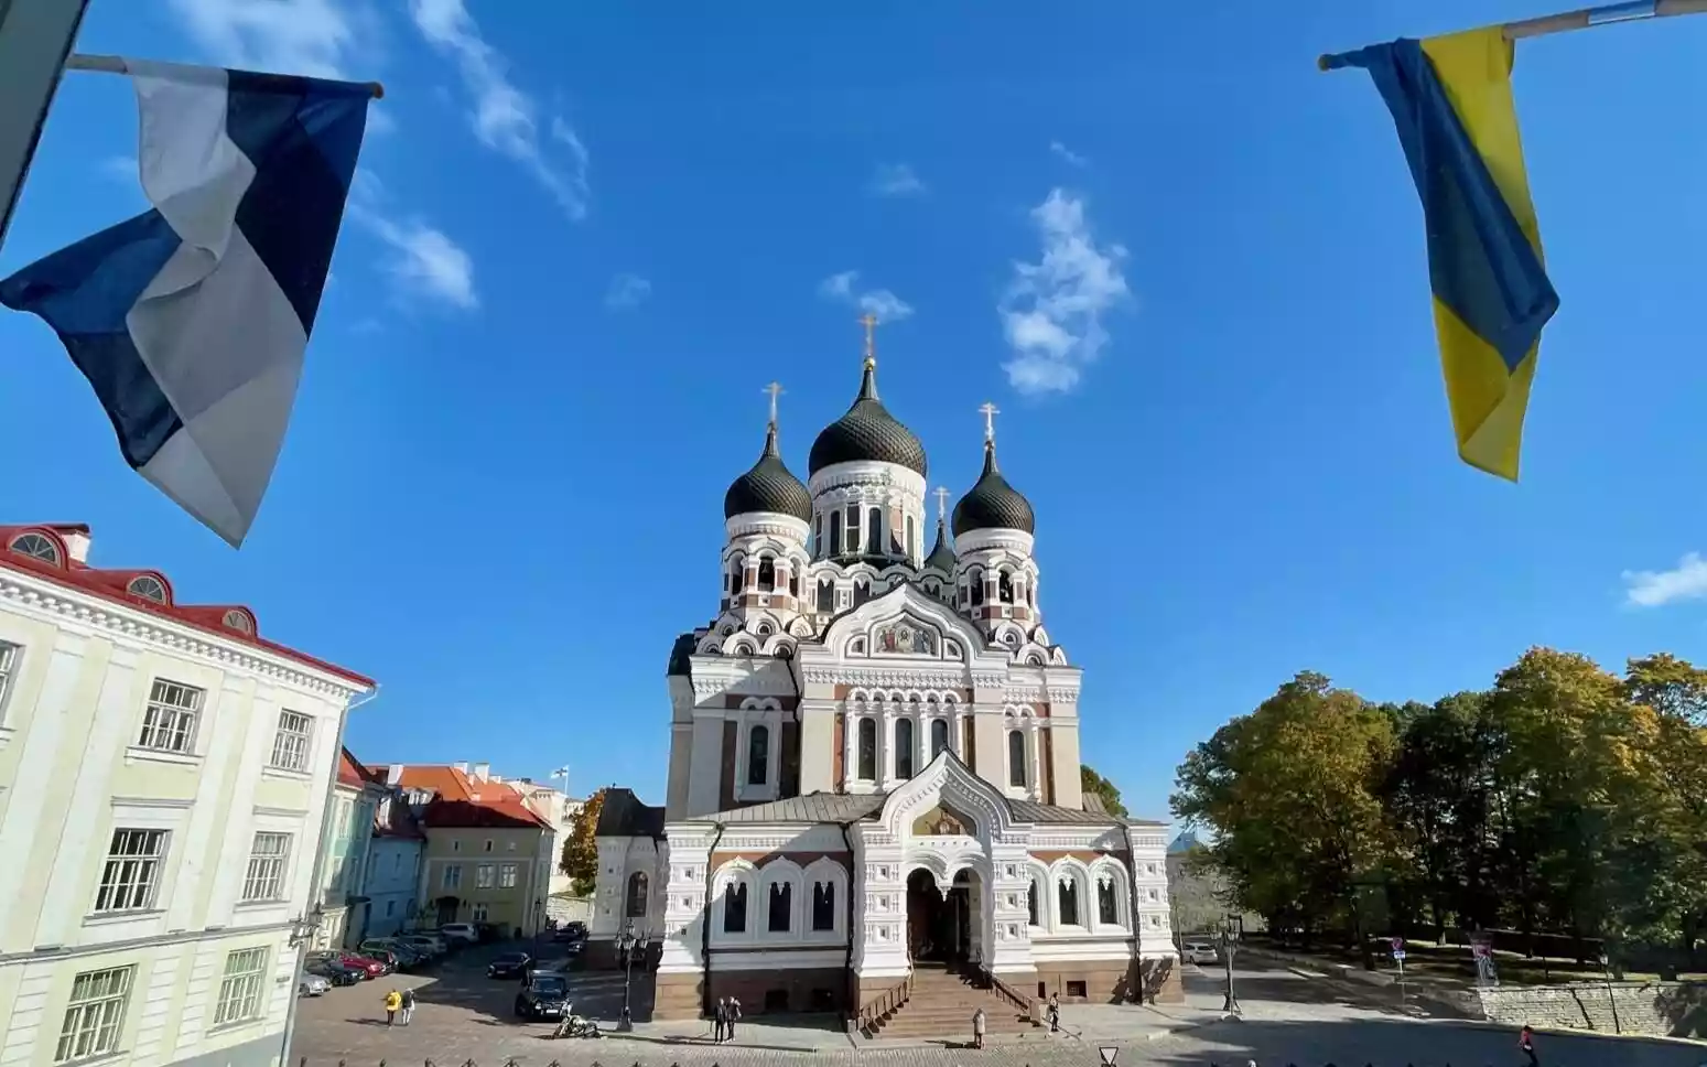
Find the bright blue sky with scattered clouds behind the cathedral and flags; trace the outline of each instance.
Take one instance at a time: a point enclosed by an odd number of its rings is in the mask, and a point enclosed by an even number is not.
[[[382,79],[384,118],[248,545],[128,471],[26,316],[9,521],[87,521],[97,563],[382,679],[365,760],[661,801],[664,661],[717,608],[761,388],[804,475],[867,299],[910,309],[879,381],[934,485],[1002,408],[1086,753],[1137,813],[1297,669],[1400,700],[1529,644],[1702,656],[1707,19],[1519,50],[1564,306],[1512,487],[1453,452],[1391,121],[1313,60],[1552,9],[968,10],[94,0],[82,51]],[[70,75],[0,270],[142,210],[133,142],[126,85]]]

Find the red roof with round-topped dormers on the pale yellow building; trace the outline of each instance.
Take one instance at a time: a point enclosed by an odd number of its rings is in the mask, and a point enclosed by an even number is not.
[[[44,538],[51,548],[48,555],[55,558],[38,558],[20,551],[15,545],[24,534]],[[126,608],[149,611],[208,633],[218,633],[227,640],[254,645],[256,649],[285,656],[318,671],[328,671],[358,686],[374,688],[372,678],[266,640],[254,623],[254,611],[249,611],[242,604],[179,604],[178,598],[172,596],[172,584],[159,570],[109,570],[80,563],[72,558],[70,546],[67,545],[68,536],[87,538],[89,528],[82,522],[0,526],[0,567],[92,592],[99,598],[121,603]],[[135,591],[133,582],[142,577],[159,580],[164,601]],[[143,582],[143,587],[152,589],[152,584]]]

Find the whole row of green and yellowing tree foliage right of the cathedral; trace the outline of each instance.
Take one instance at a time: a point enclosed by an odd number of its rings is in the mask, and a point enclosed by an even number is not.
[[[1603,937],[1669,970],[1707,936],[1707,671],[1529,649],[1427,705],[1304,673],[1186,756],[1173,808],[1272,924],[1352,929],[1372,888],[1400,929]]]

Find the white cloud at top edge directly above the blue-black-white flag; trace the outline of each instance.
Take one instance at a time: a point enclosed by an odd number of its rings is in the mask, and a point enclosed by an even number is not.
[[[169,0],[189,38],[213,60],[241,70],[369,82],[382,55],[379,17],[364,0]],[[382,104],[367,128],[393,128]]]

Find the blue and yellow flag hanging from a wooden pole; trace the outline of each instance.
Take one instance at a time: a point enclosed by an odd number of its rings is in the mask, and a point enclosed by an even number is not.
[[[1558,294],[1541,265],[1511,60],[1511,41],[1492,26],[1325,56],[1323,67],[1367,70],[1393,113],[1429,227],[1458,454],[1516,481],[1541,326]]]

